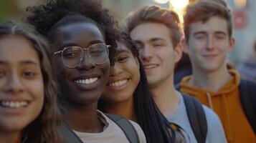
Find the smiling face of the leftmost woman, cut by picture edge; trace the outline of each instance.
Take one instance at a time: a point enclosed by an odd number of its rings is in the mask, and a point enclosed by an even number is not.
[[[37,51],[24,36],[0,39],[0,132],[21,132],[43,107],[44,83]]]

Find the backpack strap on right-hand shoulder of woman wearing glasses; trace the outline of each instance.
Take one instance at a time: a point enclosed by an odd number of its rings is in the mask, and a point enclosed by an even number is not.
[[[125,133],[125,136],[127,137],[128,141],[130,143],[139,143],[138,139],[138,133],[136,132],[136,129],[133,127],[133,124],[128,121],[128,119],[125,119],[124,117],[121,117],[116,114],[105,114],[107,117],[109,117],[115,124],[118,124],[120,129],[123,130]]]

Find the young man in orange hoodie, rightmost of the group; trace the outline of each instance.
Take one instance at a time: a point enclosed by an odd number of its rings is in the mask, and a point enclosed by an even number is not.
[[[190,4],[184,15],[184,34],[182,44],[191,59],[193,74],[181,80],[180,91],[196,97],[219,115],[228,142],[256,142],[252,107],[256,84],[243,80],[250,87],[242,97],[241,86],[245,84],[241,85],[240,74],[227,69],[226,56],[234,47],[232,15],[227,4],[203,0]],[[243,102],[245,96],[254,99]],[[244,110],[247,104],[251,117]]]

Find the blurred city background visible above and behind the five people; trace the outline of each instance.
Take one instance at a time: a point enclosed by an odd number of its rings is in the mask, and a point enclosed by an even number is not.
[[[22,19],[26,16],[26,7],[41,4],[46,0],[0,0],[0,21],[4,19]],[[194,0],[102,0],[118,21],[121,21],[130,11],[143,5],[156,4],[174,9],[182,16],[186,4]],[[253,44],[256,39],[256,0],[226,0],[232,9],[234,37],[236,44],[228,59],[237,63],[252,56]]]

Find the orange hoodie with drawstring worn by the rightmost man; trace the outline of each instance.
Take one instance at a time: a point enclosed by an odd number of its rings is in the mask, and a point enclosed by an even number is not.
[[[202,104],[210,107],[219,115],[229,143],[256,143],[255,133],[240,102],[240,74],[234,69],[229,70],[229,73],[233,78],[219,92],[190,87],[187,83],[191,76],[181,80],[180,91],[196,97]]]

